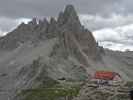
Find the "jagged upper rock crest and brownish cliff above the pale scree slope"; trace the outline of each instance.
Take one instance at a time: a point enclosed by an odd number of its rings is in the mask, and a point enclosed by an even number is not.
[[[33,18],[28,24],[20,24],[15,30],[0,38],[0,48],[12,50],[21,44],[59,37],[66,52],[77,57],[88,66],[89,58],[98,58],[96,41],[90,31],[85,29],[72,5],[66,6],[57,20],[51,18],[39,20]]]

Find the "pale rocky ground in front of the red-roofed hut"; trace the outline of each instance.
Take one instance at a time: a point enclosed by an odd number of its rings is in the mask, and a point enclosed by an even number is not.
[[[121,82],[114,86],[99,86],[94,82],[87,81],[73,100],[130,100],[131,85],[129,84],[132,82]]]

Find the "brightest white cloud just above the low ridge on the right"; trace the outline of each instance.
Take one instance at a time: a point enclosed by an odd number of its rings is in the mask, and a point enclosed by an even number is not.
[[[133,24],[94,31],[101,45],[113,50],[133,50]]]

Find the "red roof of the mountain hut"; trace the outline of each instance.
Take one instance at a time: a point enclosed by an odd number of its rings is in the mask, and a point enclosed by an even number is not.
[[[109,71],[97,71],[95,73],[95,79],[113,80],[113,78],[116,75],[119,75],[119,74],[115,72],[109,72]]]

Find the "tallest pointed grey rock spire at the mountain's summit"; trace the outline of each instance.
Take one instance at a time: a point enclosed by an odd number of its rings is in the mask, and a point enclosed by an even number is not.
[[[67,5],[64,12],[60,12],[57,22],[59,26],[72,32],[79,32],[82,28],[73,5]]]

